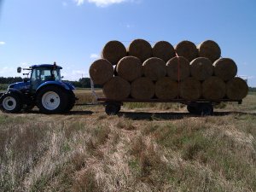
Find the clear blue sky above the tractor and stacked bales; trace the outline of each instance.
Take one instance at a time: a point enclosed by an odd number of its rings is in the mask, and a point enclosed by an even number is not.
[[[255,0],[0,0],[0,76],[53,63],[65,79],[88,77],[109,40],[153,45],[216,41],[256,86]]]

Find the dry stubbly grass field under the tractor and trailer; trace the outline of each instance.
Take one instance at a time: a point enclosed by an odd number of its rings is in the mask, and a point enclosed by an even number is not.
[[[90,90],[76,95],[95,101]],[[102,106],[0,113],[0,190],[256,191],[256,95],[215,111],[131,103],[116,116]]]

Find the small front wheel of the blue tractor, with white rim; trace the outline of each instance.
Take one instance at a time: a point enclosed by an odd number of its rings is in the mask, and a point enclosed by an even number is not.
[[[4,113],[19,113],[21,108],[22,102],[18,94],[7,92],[0,97],[0,109]]]

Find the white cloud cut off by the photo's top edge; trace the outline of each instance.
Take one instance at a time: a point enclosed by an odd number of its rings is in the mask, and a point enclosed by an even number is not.
[[[84,2],[95,3],[97,7],[107,7],[111,4],[118,4],[124,2],[138,3],[140,0],[73,0],[78,6]]]

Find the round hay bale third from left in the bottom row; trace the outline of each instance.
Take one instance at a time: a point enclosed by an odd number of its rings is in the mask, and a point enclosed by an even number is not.
[[[164,77],[155,83],[155,96],[159,99],[174,99],[178,95],[177,82]]]

